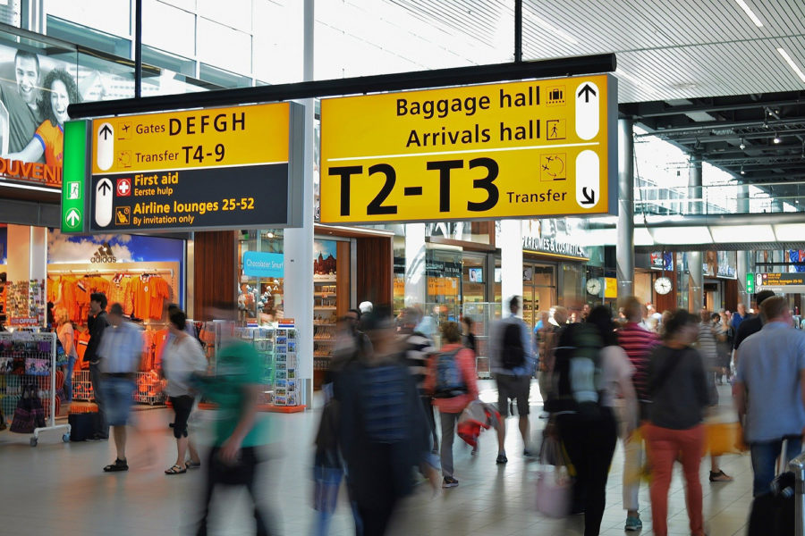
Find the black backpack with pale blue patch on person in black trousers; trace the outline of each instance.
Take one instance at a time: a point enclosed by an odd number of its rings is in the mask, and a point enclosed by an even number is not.
[[[604,342],[593,325],[573,323],[560,332],[555,348],[554,395],[545,406],[548,413],[597,413],[603,394],[602,348]]]

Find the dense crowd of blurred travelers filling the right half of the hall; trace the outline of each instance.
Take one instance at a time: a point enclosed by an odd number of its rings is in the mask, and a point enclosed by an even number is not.
[[[436,349],[428,336],[433,321],[423,320],[417,308],[396,319],[383,307],[368,314],[352,310],[340,323],[324,389],[314,463],[317,533],[327,533],[342,480],[356,534],[366,536],[386,533],[417,478],[434,490],[458,486],[454,440],[459,435],[473,455],[479,453],[477,431],[473,436],[467,424],[476,415],[484,428],[496,429],[497,465],[512,456],[505,449],[510,416],[526,459],[555,463],[543,459],[544,445],[561,445],[562,463],[572,467],[567,514],[584,516],[585,536],[600,532],[619,440],[625,531],[642,529],[639,490],[648,475],[652,529],[667,534],[668,491],[678,461],[691,534],[705,534],[699,467],[708,451],[706,422],[718,412],[718,385],[733,385],[735,443],[745,441],[750,450],[756,498],[771,493],[784,444],[784,462],[801,451],[805,333],[793,328],[785,298],[759,293],[755,299],[759,314],[742,304],[734,314],[659,314],[636,297],[624,299],[616,313],[584,306],[568,314],[559,306],[540,314],[532,331],[519,316],[520,298],[512,297],[488,331],[496,406],[478,400],[472,319],[438,322]],[[547,420],[536,439],[530,431],[534,378],[543,400],[539,416]],[[719,465],[722,452],[708,454],[709,482],[732,482]]]

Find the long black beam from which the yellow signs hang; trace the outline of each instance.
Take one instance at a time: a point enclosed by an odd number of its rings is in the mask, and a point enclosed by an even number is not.
[[[124,98],[70,105],[67,113],[72,119],[80,119],[120,113],[162,112],[187,108],[280,102],[321,96],[362,95],[403,89],[445,88],[504,80],[543,79],[612,72],[616,66],[615,54],[597,54],[537,62],[497,63],[347,79],[315,80],[256,88],[219,89],[181,95]]]

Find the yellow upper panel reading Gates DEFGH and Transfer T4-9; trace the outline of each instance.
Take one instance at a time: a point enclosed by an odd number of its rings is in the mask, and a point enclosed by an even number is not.
[[[233,106],[92,121],[92,174],[288,161],[289,105]]]

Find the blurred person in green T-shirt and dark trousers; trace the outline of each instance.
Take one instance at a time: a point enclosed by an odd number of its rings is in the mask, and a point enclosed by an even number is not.
[[[234,305],[222,304],[212,309],[212,317],[234,322],[237,313]],[[272,533],[256,486],[268,433],[267,420],[258,418],[257,412],[264,373],[265,363],[257,350],[230,336],[222,340],[216,352],[216,374],[197,377],[202,394],[218,409],[213,448],[207,459],[199,536],[208,533],[210,503],[218,484],[245,487],[254,505],[258,536]]]

